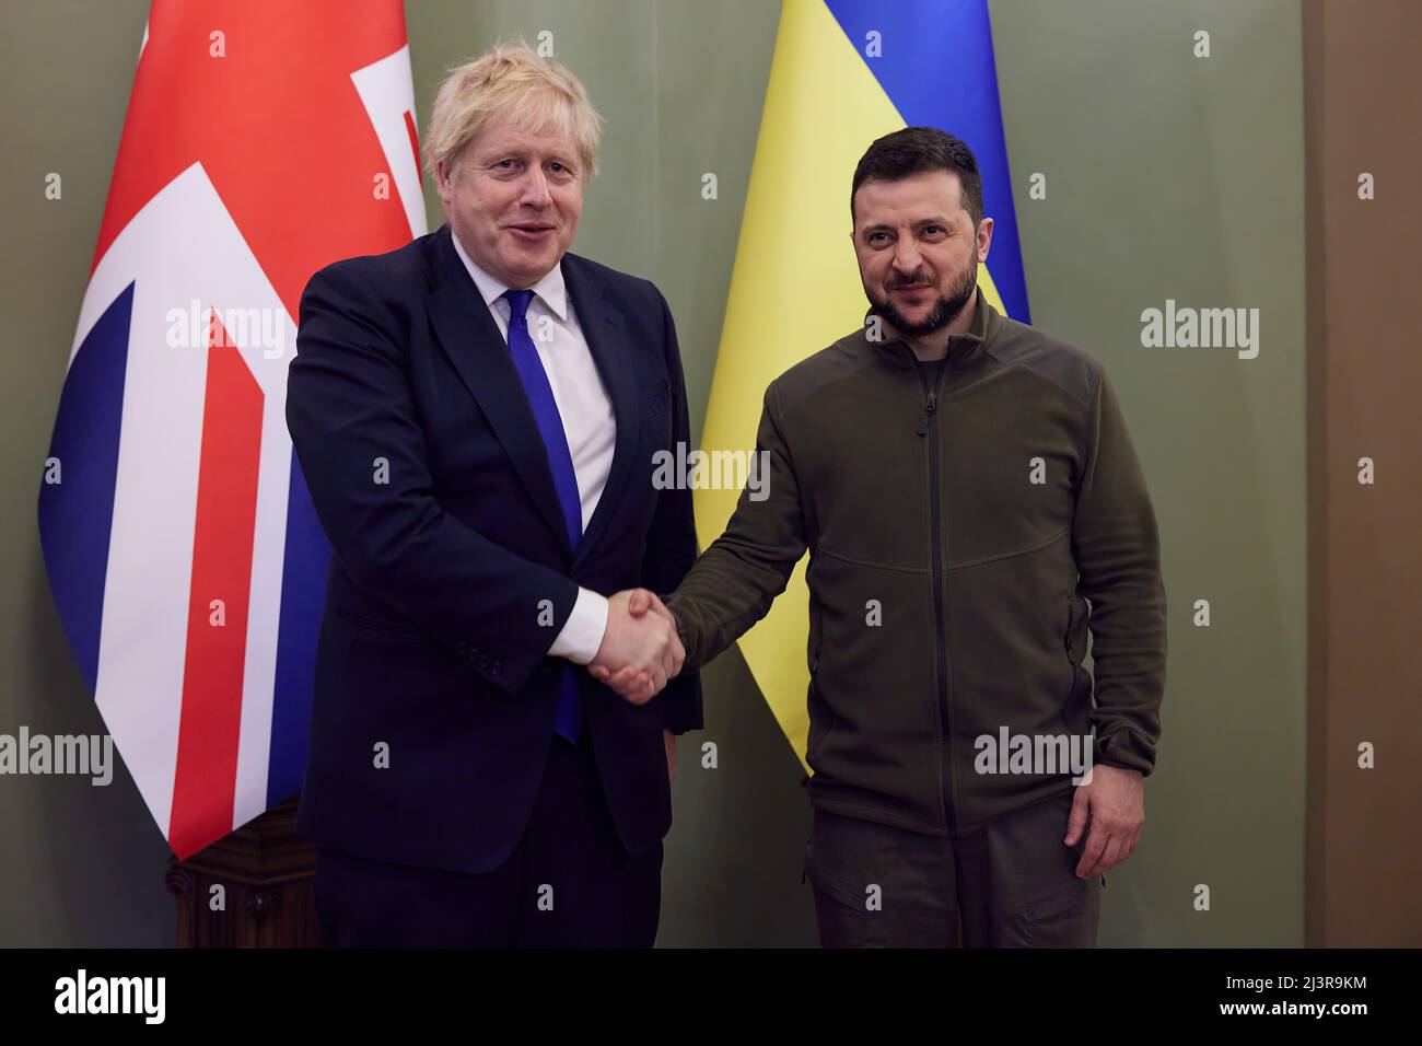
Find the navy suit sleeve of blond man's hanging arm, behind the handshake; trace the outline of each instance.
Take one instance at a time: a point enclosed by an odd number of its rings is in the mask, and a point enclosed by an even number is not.
[[[681,349],[671,309],[657,292],[665,330],[665,363],[671,377],[671,440],[673,447],[690,447],[691,421],[687,413],[687,381],[681,370]],[[671,592],[691,569],[697,558],[697,524],[691,491],[685,484],[657,491],[657,511],[647,532],[647,552],[641,561],[641,585],[657,595]],[[700,730],[705,726],[701,714],[701,676],[694,666],[667,683],[657,697],[663,709],[663,726],[671,733]]]

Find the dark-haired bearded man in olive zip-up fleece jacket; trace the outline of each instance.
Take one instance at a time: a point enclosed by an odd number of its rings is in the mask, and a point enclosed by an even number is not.
[[[1135,848],[1160,734],[1145,478],[1101,363],[977,287],[993,222],[966,145],[882,138],[852,209],[866,327],[765,391],[768,495],[742,492],[665,599],[685,669],[765,616],[809,549],[823,942],[951,944],[957,919],[968,945],[1092,945],[1098,877]],[[1004,731],[1037,761],[985,757]],[[1042,739],[1081,743],[1088,783]]]

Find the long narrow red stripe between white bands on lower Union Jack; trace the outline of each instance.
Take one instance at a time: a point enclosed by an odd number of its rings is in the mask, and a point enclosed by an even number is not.
[[[242,733],[262,389],[212,316],[168,842],[179,860],[232,831]],[[220,625],[213,601],[222,601]]]

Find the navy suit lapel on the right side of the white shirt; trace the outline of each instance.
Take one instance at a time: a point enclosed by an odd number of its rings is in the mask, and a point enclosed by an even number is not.
[[[563,255],[563,282],[577,312],[583,337],[592,350],[593,363],[603,379],[603,389],[611,400],[613,416],[617,418],[617,441],[607,485],[603,487],[597,508],[577,546],[577,556],[573,561],[576,565],[587,558],[589,551],[607,529],[607,519],[617,511],[623,488],[636,471],[633,457],[640,444],[641,411],[621,310],[604,297],[606,287],[602,279],[576,255]]]

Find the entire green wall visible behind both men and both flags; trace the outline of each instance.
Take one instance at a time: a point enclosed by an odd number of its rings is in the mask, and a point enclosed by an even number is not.
[[[779,6],[764,0],[410,0],[421,121],[441,73],[553,33],[607,117],[574,249],[648,276],[681,334],[698,431]],[[1034,322],[1105,360],[1160,519],[1170,667],[1142,847],[1108,877],[1103,945],[1303,942],[1303,88],[1294,0],[991,4]],[[40,562],[36,495],[146,4],[0,13],[9,380],[0,731],[98,733]],[[1212,57],[1192,57],[1207,30]],[[951,130],[951,128],[948,128]],[[867,142],[866,142],[867,145]],[[46,201],[44,175],[64,176]],[[701,199],[714,171],[720,199]],[[1027,198],[1031,172],[1047,199]],[[842,179],[808,159],[806,178]],[[427,185],[431,226],[438,199]],[[846,246],[848,249],[848,246]],[[1261,310],[1261,352],[1146,350],[1139,315]],[[806,354],[820,346],[805,346]],[[1192,625],[1210,602],[1212,625]],[[739,656],[684,739],[663,945],[815,942],[799,764]],[[720,767],[695,744],[715,740]],[[165,945],[166,845],[131,778],[0,777],[0,945]],[[1212,909],[1192,907],[1207,884]]]

